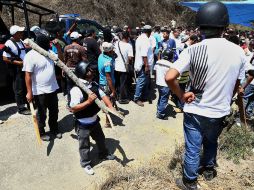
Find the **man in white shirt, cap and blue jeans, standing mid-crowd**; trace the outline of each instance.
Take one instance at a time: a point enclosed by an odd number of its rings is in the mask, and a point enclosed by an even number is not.
[[[137,72],[137,84],[134,95],[134,102],[139,106],[144,106],[142,100],[148,99],[148,83],[149,83],[149,60],[153,56],[149,37],[152,32],[152,27],[145,25],[143,33],[136,40],[136,56],[134,68]]]

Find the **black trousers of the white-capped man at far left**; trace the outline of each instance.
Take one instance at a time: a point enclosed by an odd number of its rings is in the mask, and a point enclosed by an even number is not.
[[[15,100],[17,103],[18,111],[22,110],[26,101],[26,84],[25,84],[25,73],[21,69],[17,69],[17,72],[13,75],[12,83]]]

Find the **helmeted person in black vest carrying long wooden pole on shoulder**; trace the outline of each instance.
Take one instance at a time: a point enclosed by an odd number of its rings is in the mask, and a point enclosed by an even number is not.
[[[80,164],[85,172],[93,175],[90,158],[90,136],[95,140],[99,158],[101,160],[114,160],[115,156],[109,154],[105,145],[105,135],[101,129],[100,118],[97,115],[100,108],[95,103],[95,99],[102,100],[107,107],[113,108],[112,103],[99,85],[93,81],[95,71],[91,65],[80,62],[75,69],[75,74],[93,93],[87,95],[79,87],[74,86],[71,91],[71,101],[69,110],[74,114],[77,122],[77,134],[79,140]]]

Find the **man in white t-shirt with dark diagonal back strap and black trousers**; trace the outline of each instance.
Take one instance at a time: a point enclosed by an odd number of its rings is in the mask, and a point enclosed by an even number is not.
[[[117,58],[115,60],[115,78],[116,78],[116,90],[119,94],[118,102],[120,104],[129,103],[128,93],[128,72],[129,64],[132,63],[133,48],[129,43],[129,32],[122,33],[122,40],[115,44],[115,53]]]

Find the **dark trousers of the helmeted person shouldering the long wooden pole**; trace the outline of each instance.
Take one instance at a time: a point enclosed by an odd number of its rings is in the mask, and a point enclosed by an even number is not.
[[[101,129],[100,122],[96,122],[94,125],[82,126],[79,122],[78,125],[78,140],[79,140],[79,154],[80,165],[86,167],[91,164],[90,158],[90,136],[96,142],[99,150],[99,158],[103,158],[108,154],[108,150],[105,145],[105,135]]]

